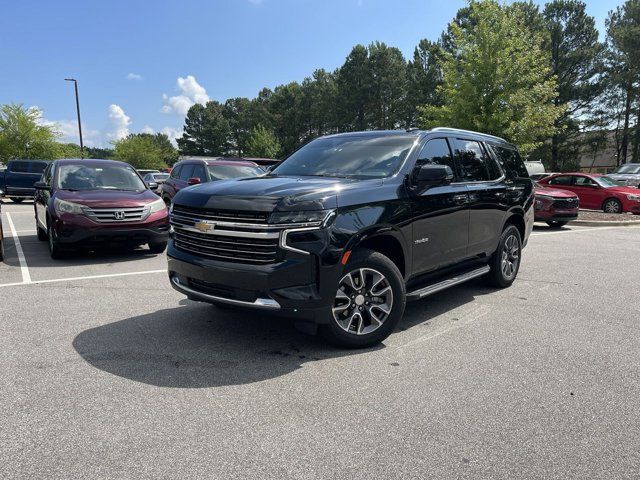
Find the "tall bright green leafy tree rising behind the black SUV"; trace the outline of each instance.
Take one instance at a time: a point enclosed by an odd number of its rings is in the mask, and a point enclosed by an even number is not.
[[[528,28],[522,9],[471,1],[465,21],[452,22],[449,32],[438,88],[443,105],[421,109],[423,127],[498,135],[524,154],[554,133],[564,106],[554,103],[557,83],[543,37]]]

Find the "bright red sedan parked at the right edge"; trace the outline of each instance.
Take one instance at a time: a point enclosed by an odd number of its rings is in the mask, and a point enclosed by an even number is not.
[[[640,213],[640,191],[620,185],[596,173],[559,173],[539,182],[560,190],[568,190],[580,198],[582,208],[607,213]]]

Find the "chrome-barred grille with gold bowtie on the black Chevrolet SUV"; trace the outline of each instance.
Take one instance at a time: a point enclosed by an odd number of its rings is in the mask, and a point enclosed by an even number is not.
[[[262,212],[198,210],[174,205],[171,213],[174,245],[179,250],[219,261],[274,263],[281,227],[268,225],[267,216]]]

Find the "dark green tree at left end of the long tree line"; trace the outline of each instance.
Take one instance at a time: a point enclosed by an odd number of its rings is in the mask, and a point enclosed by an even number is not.
[[[183,155],[221,156],[230,149],[231,127],[224,107],[216,101],[196,103],[187,112],[184,133],[178,138]]]

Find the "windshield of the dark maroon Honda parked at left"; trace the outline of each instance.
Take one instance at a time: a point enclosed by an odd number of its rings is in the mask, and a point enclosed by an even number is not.
[[[140,191],[146,187],[136,171],[119,164],[65,164],[58,169],[58,188],[64,190]]]

